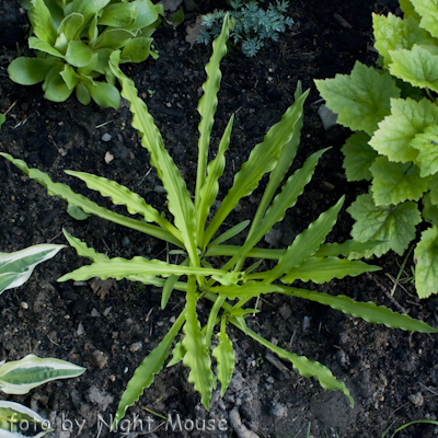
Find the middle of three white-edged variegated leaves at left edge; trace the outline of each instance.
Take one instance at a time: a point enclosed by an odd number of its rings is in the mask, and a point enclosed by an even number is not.
[[[65,360],[27,355],[21,360],[9,361],[0,367],[0,390],[7,394],[27,394],[43,383],[78,377],[84,371],[85,368]]]

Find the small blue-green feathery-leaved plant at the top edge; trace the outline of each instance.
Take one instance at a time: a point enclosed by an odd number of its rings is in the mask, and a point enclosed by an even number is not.
[[[270,3],[267,9],[261,8],[258,3],[255,0],[231,0],[233,10],[229,13],[233,20],[230,37],[235,44],[241,44],[242,51],[250,58],[264,46],[265,39],[277,42],[279,34],[293,24],[290,16],[284,15],[288,1],[277,0],[276,4]],[[203,15],[203,26],[196,42],[208,44],[211,38],[216,38],[220,34],[224,15],[224,11]]]

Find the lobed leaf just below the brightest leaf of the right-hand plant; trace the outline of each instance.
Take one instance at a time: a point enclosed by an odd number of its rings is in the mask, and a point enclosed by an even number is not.
[[[427,191],[429,178],[419,176],[419,168],[412,163],[393,163],[379,157],[371,165],[372,197],[377,206],[418,200]]]

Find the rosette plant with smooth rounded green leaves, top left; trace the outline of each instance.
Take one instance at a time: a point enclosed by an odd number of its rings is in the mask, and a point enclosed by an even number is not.
[[[28,18],[35,36],[28,38],[36,58],[20,57],[8,68],[23,85],[43,82],[44,96],[64,102],[74,91],[88,105],[118,108],[120,94],[110,56],[122,49],[120,62],[142,62],[151,49],[161,4],[150,0],[32,0]],[[105,81],[96,80],[105,76]]]

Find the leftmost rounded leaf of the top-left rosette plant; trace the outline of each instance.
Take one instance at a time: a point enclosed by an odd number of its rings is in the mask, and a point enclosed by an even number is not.
[[[33,85],[44,81],[48,71],[59,61],[43,58],[14,59],[8,67],[9,77],[21,85]]]

